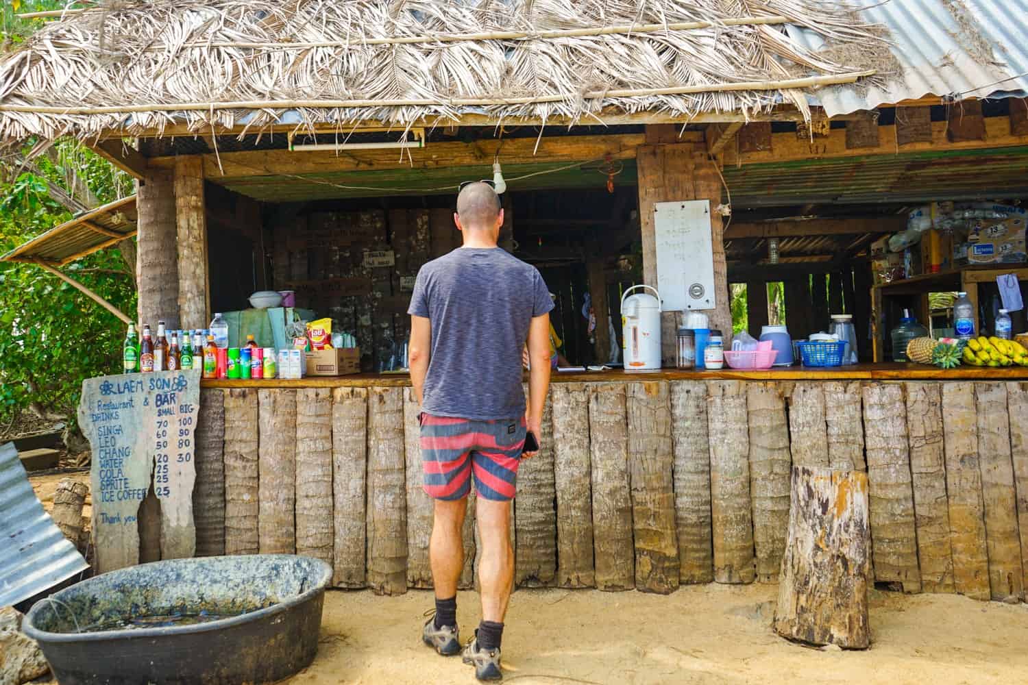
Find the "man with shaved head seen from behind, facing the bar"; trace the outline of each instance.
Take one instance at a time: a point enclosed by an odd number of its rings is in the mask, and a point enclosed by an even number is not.
[[[471,479],[481,539],[482,620],[464,648],[479,680],[499,680],[504,615],[514,582],[508,535],[526,431],[539,439],[550,382],[550,299],[539,271],[497,246],[504,213],[486,183],[464,186],[456,227],[464,245],[421,267],[410,300],[410,380],[421,408],[425,491],[435,499],[429,557],[435,616],[423,640],[440,654],[461,651],[456,584],[461,529]],[[525,409],[521,349],[531,371]],[[538,450],[538,447],[536,448]]]

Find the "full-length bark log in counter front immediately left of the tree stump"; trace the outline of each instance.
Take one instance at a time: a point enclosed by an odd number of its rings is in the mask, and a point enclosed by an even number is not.
[[[749,495],[757,580],[777,582],[788,528],[788,422],[777,383],[748,383]]]

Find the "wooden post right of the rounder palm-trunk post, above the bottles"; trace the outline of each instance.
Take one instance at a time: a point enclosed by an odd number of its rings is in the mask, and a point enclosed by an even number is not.
[[[175,160],[175,218],[178,252],[164,255],[164,259],[178,254],[179,324],[185,329],[201,329],[211,319],[204,160],[197,155],[183,155]]]

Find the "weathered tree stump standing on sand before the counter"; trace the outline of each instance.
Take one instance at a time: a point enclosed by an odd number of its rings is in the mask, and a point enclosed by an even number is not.
[[[868,475],[794,466],[775,633],[812,645],[866,649],[871,528]]]

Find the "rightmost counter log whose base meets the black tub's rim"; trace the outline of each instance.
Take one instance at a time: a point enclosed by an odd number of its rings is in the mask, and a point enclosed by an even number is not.
[[[296,391],[296,554],[333,562],[332,394]]]

